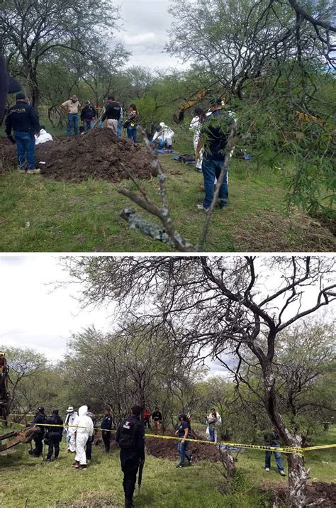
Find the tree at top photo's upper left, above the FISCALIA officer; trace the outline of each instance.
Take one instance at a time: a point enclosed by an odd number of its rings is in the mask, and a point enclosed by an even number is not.
[[[106,41],[113,38],[118,9],[109,0],[9,0],[0,12],[0,50],[9,65],[26,78],[30,99],[40,101],[40,65],[55,50],[65,48],[86,66],[111,54]],[[114,65],[128,57],[123,46],[113,50]]]

